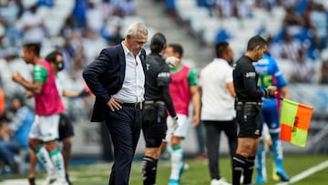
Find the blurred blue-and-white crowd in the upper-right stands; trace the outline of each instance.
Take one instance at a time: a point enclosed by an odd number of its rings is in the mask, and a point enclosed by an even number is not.
[[[236,42],[242,43],[244,38],[238,35],[256,26],[258,28],[251,34],[265,36],[270,42],[269,51],[272,57],[282,61],[281,63],[289,63],[289,65],[282,64],[282,67],[289,66],[287,70],[282,70],[288,73],[286,76],[289,82],[327,84],[327,1],[195,0],[195,2],[198,6],[207,8],[209,17],[217,18],[218,23],[228,20],[225,26],[217,30],[214,43],[231,42],[233,39],[238,39]],[[182,5],[181,0],[166,0],[166,5],[171,17],[179,19],[179,15],[183,15],[178,7]],[[239,21],[238,24],[244,25],[237,27],[237,33],[232,33],[234,28],[229,27],[234,26],[236,19]],[[246,22],[247,20],[251,21]],[[277,21],[280,23],[276,23]],[[193,24],[192,22],[193,20],[190,20],[190,25]],[[277,28],[277,32],[272,32]],[[207,29],[209,30],[210,27]],[[240,55],[241,53],[238,53],[238,56]]]

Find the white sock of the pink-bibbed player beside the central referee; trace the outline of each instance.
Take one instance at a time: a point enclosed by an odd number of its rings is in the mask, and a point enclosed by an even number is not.
[[[182,168],[183,151],[181,146],[172,147],[170,180],[179,180],[179,170]]]

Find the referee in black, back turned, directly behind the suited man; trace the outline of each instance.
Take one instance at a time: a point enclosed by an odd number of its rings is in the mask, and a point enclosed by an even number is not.
[[[151,38],[151,53],[146,57],[146,92],[142,110],[142,131],[146,141],[142,172],[144,185],[156,184],[157,163],[160,156],[160,144],[167,131],[167,112],[174,120],[178,117],[169,96],[169,66],[162,55],[166,49],[166,38],[161,33]]]

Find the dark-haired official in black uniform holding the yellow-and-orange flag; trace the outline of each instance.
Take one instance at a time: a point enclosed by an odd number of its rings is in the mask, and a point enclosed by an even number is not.
[[[261,36],[253,36],[248,41],[247,51],[237,62],[233,70],[233,86],[237,94],[237,123],[240,125],[238,146],[232,161],[232,184],[251,184],[254,159],[261,137],[261,98],[274,96],[277,87],[263,90],[257,87],[258,74],[252,63],[263,57],[267,43]]]

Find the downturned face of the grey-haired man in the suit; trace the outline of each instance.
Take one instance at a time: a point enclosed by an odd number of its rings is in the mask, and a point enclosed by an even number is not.
[[[137,36],[127,36],[128,49],[137,56],[147,43],[148,36],[138,33]]]

